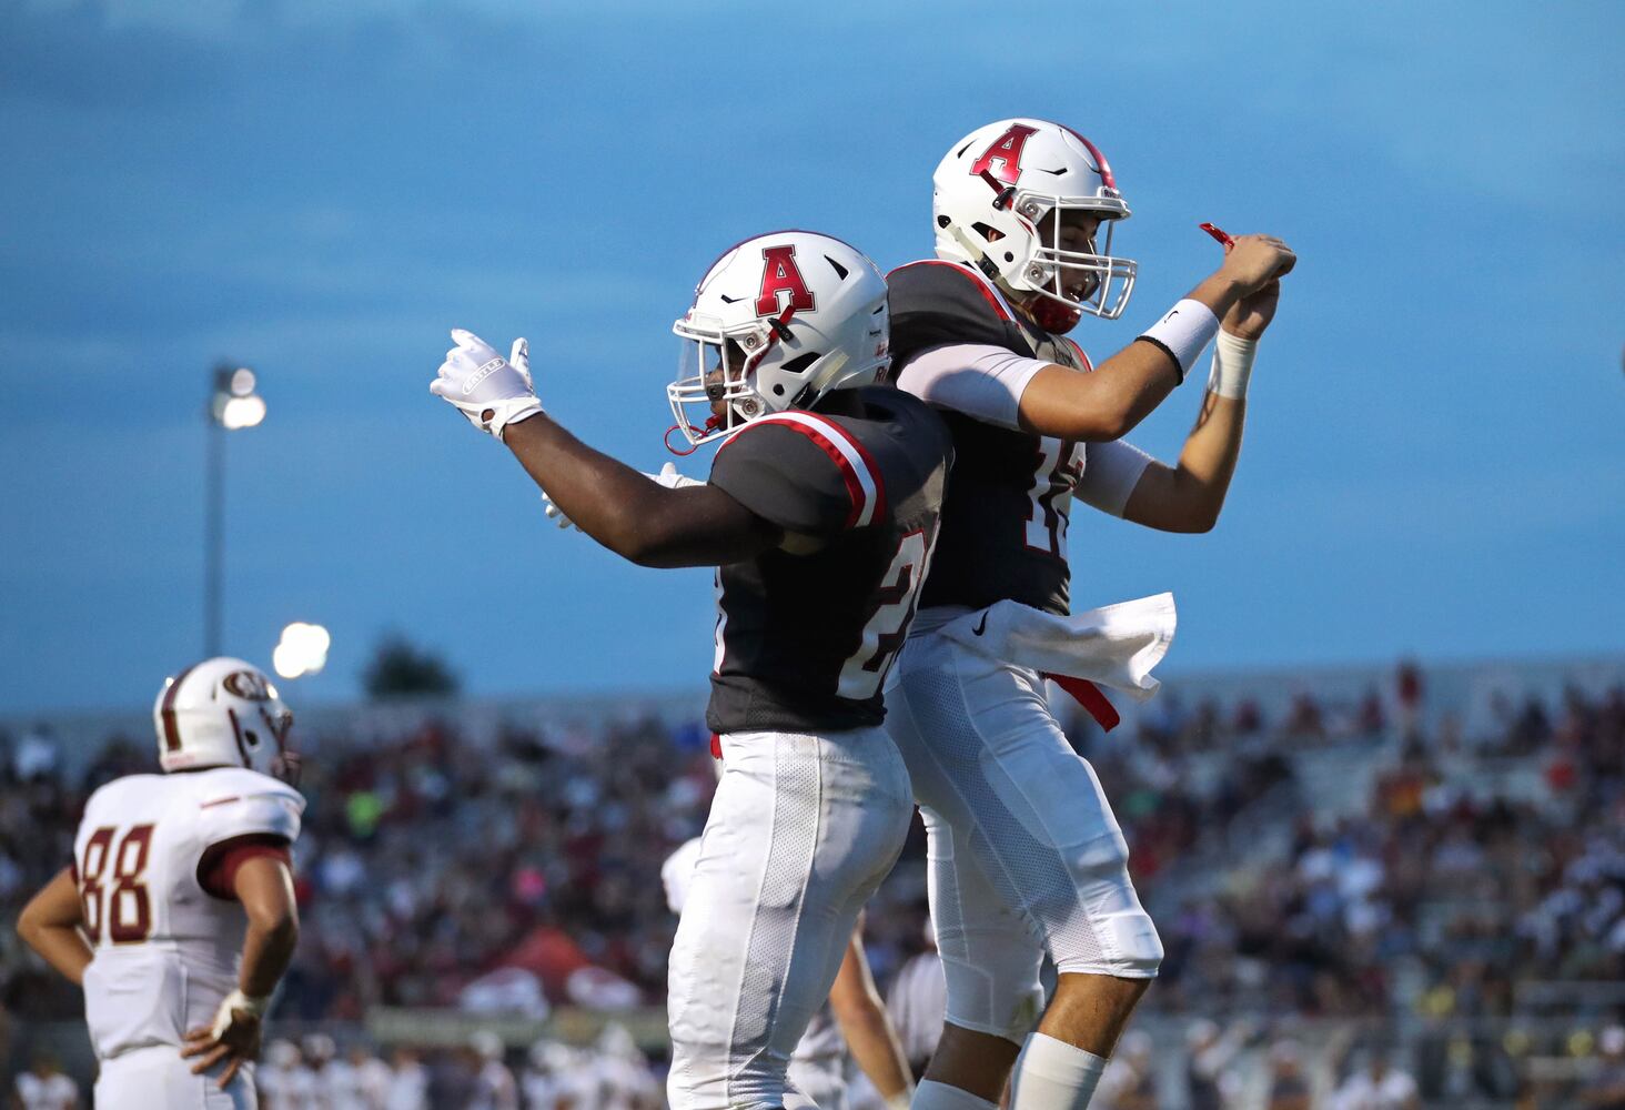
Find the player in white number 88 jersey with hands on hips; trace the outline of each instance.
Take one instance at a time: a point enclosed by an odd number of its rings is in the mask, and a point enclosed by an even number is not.
[[[236,658],[164,683],[162,775],[117,778],[84,804],[65,866],[18,933],[84,988],[96,1105],[254,1107],[254,1058],[299,934],[289,848],[304,798],[292,713]]]

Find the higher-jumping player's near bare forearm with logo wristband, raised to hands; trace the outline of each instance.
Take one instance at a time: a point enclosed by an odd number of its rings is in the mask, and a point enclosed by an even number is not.
[[[1201,307],[1175,306],[1094,374],[1064,366],[1045,366],[1034,374],[1020,395],[1022,431],[1082,442],[1121,439],[1185,380],[1190,364],[1212,338],[1214,323],[1294,265],[1297,257],[1279,239],[1238,237],[1219,270],[1186,294],[1186,301]],[[1202,307],[1212,314],[1206,327],[1196,319]]]

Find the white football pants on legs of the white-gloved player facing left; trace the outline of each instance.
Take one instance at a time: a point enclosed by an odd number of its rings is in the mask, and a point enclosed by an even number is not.
[[[912,798],[879,730],[723,736],[723,775],[671,949],[674,1110],[804,1105],[786,1081]]]

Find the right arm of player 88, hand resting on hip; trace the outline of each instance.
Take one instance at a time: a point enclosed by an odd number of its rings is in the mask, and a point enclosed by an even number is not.
[[[182,1056],[198,1058],[193,1074],[224,1061],[219,1076],[223,1090],[244,1061],[260,1055],[262,1017],[299,943],[299,905],[286,852],[266,852],[239,863],[232,871],[231,892],[249,918],[237,990],[219,1004],[213,1025],[187,1032],[187,1045],[180,1050]]]

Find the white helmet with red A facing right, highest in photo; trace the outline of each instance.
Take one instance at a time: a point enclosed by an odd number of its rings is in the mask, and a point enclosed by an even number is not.
[[[1123,314],[1138,267],[1112,255],[1112,229],[1128,203],[1087,138],[1045,120],[988,124],[954,143],[931,184],[936,254],[978,268],[1040,327],[1064,333],[1084,312]],[[1092,252],[1060,245],[1061,215],[1077,210],[1100,218]]]

